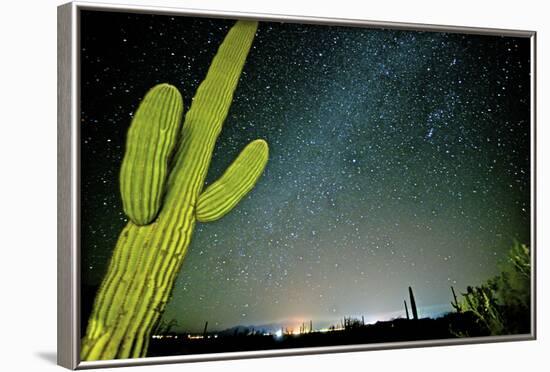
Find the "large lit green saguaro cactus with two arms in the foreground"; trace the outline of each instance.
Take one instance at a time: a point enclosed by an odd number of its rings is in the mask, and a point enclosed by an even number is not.
[[[202,190],[256,28],[256,22],[239,21],[229,31],[181,130],[183,105],[176,88],[158,85],[141,102],[128,131],[120,173],[129,222],[96,296],[81,359],[146,355],[195,222],[228,213],[263,172],[268,146],[256,140],[218,181]]]

